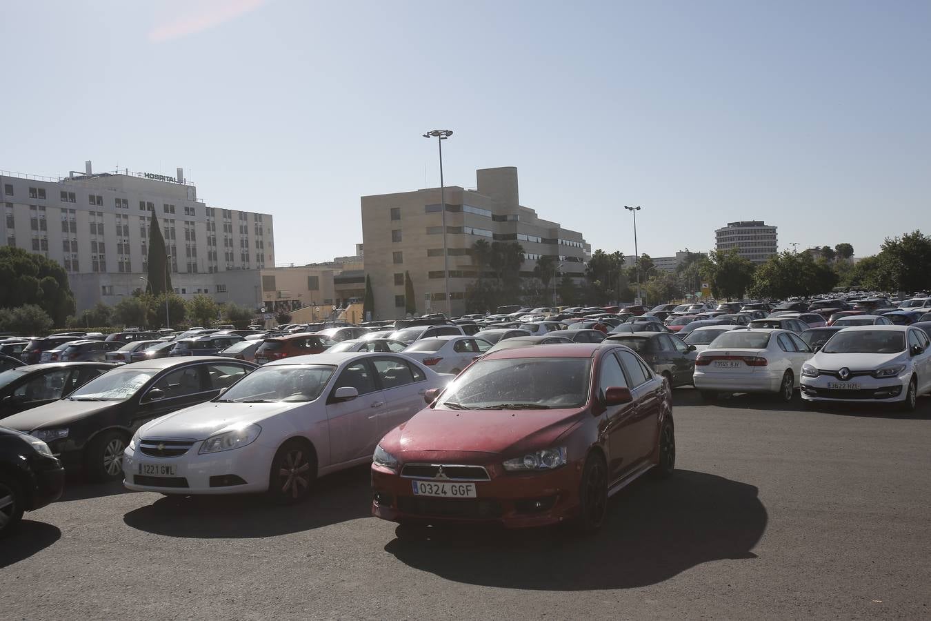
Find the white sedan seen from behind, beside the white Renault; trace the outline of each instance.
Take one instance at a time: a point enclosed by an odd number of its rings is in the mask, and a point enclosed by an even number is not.
[[[788,402],[811,357],[808,345],[788,330],[726,331],[695,358],[695,387],[708,400],[721,393],[762,392]]]

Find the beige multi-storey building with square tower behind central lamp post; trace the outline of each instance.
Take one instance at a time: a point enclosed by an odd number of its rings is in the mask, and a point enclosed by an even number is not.
[[[560,275],[581,279],[591,246],[582,234],[539,218],[519,203],[518,169],[479,169],[478,188],[445,189],[446,229],[439,188],[362,196],[365,271],[371,277],[375,317],[404,317],[404,273],[410,272],[418,313],[446,312],[443,237],[449,262],[450,312],[466,312],[466,288],[478,277],[472,245],[479,239],[517,241],[526,255],[522,277],[551,255]],[[363,282],[364,291],[364,282]],[[515,292],[515,304],[519,302]]]

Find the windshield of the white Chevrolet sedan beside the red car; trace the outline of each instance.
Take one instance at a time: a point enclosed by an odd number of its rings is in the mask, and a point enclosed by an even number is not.
[[[325,364],[289,364],[262,367],[233,385],[218,402],[265,403],[313,401],[330,382],[336,367]]]

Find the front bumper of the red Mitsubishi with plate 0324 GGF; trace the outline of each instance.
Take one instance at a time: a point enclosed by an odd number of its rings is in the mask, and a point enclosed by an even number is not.
[[[412,481],[431,479],[400,477],[372,465],[371,514],[398,522],[496,523],[506,528],[557,524],[578,513],[582,466],[570,462],[550,472],[511,474],[486,465],[491,480],[475,483],[476,498],[451,499],[414,495]]]

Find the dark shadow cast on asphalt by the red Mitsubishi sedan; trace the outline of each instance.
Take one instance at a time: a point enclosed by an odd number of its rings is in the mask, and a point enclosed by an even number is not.
[[[400,525],[385,551],[414,568],[486,587],[632,588],[695,565],[755,559],[768,517],[757,488],[690,470],[641,479],[612,498],[600,532]]]

